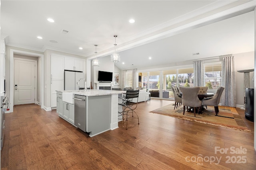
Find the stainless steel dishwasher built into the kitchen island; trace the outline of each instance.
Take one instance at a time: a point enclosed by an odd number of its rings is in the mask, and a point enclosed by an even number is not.
[[[74,96],[75,126],[86,132],[86,96]]]

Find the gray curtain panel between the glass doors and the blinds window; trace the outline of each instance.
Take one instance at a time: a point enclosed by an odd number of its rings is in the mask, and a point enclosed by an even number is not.
[[[194,61],[194,87],[204,86],[204,61]]]

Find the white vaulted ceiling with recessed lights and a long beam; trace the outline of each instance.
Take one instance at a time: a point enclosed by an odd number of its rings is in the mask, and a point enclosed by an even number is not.
[[[1,39],[93,59],[95,44],[98,57],[112,54],[118,35],[120,69],[168,66],[254,51],[254,8],[254,0],[1,0]]]

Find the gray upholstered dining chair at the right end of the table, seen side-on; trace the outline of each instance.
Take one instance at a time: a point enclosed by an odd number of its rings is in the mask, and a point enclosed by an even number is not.
[[[220,97],[222,95],[222,92],[224,90],[224,87],[220,86],[218,87],[216,94],[212,98],[204,98],[202,100],[202,105],[204,106],[214,106],[215,114],[218,116],[219,113],[219,103],[220,103]]]

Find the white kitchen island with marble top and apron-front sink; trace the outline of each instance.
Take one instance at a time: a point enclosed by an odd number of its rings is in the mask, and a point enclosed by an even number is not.
[[[56,90],[57,92],[57,113],[60,117],[89,133],[90,137],[98,135],[108,130],[118,128],[118,95],[126,91],[118,90]],[[75,97],[78,96],[78,97]],[[79,100],[79,96],[82,100]],[[84,105],[78,108],[76,103]],[[81,104],[80,104],[81,105]],[[79,117],[79,118],[78,118]],[[84,121],[85,127],[80,127],[80,122]]]

